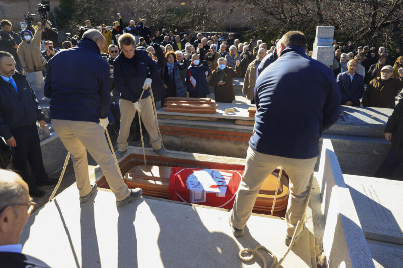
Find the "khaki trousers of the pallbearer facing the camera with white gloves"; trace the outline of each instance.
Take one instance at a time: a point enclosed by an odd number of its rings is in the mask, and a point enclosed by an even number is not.
[[[154,117],[153,104],[151,96],[140,99],[140,117],[150,136],[150,143],[154,150],[162,148],[161,137],[158,135],[157,121]],[[133,103],[128,100],[120,99],[120,132],[117,137],[117,150],[124,152],[129,145],[127,139],[130,135],[130,126],[135,118],[136,110]],[[138,124],[138,122],[136,122]]]

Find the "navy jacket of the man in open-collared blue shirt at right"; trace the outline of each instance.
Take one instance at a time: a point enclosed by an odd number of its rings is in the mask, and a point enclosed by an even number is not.
[[[348,71],[342,72],[337,76],[336,82],[342,97],[341,105],[351,101],[354,106],[361,106],[360,98],[364,93],[364,77],[361,74],[356,72],[351,82],[350,73]]]

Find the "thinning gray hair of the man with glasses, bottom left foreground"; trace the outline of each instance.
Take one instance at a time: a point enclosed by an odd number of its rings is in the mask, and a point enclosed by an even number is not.
[[[24,185],[17,183],[18,180],[22,179],[17,173],[10,170],[0,170],[0,210],[12,204],[20,203],[24,195],[27,194]],[[13,210],[18,217],[18,209],[13,206]]]

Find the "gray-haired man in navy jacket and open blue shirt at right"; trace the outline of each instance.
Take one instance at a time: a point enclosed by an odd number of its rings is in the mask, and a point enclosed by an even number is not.
[[[361,106],[360,98],[364,93],[364,77],[357,73],[358,63],[351,59],[347,63],[347,72],[340,73],[336,82],[342,97],[341,105]]]

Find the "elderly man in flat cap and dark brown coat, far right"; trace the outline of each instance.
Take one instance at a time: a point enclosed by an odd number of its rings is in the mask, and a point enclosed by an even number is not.
[[[369,107],[394,108],[397,93],[403,88],[403,68],[398,70],[399,78],[392,78],[393,67],[381,69],[381,77],[376,77],[367,85],[362,105]]]

